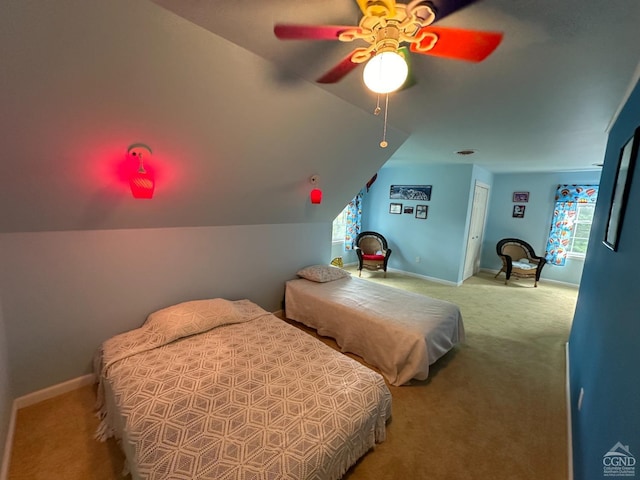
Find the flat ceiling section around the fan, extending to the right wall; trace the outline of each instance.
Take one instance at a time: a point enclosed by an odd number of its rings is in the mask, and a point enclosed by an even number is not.
[[[277,22],[357,24],[355,0],[154,1],[270,59],[292,88],[296,78],[313,81],[363,45],[273,34]],[[412,55],[418,83],[393,94],[389,112],[410,136],[390,162],[476,163],[493,172],[594,169],[640,61],[639,21],[636,0],[480,0],[446,16],[436,24],[500,31],[504,40],[479,64]],[[375,104],[361,70],[323,88],[368,111]],[[464,149],[476,154],[456,155]]]

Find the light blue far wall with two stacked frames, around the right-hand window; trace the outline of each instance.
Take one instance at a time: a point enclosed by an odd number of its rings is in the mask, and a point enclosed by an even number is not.
[[[526,240],[538,255],[544,255],[551,218],[555,206],[555,193],[559,184],[592,184],[600,182],[600,171],[496,174],[494,176],[489,213],[482,245],[480,266],[499,270],[496,243],[501,238],[516,237]],[[529,192],[524,218],[513,218],[513,192]],[[542,278],[579,284],[583,259],[569,258],[563,267],[546,265]]]

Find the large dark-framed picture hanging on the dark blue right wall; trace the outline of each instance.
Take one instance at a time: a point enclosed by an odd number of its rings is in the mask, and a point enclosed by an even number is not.
[[[636,128],[633,136],[627,140],[618,157],[616,167],[615,183],[611,194],[611,207],[609,208],[609,219],[603,243],[614,252],[618,249],[618,239],[622,230],[622,220],[624,210],[627,206],[629,187],[633,177],[633,167],[638,156],[638,143],[640,142],[640,127]]]

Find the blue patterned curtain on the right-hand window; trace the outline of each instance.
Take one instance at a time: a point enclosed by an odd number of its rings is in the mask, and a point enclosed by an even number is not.
[[[573,223],[579,203],[595,203],[598,185],[558,185],[556,206],[549,231],[546,258],[552,265],[563,266],[567,261],[567,245],[571,241]]]

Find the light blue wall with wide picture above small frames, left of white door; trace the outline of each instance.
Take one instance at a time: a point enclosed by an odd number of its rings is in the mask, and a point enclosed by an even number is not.
[[[363,199],[363,230],[382,233],[393,250],[389,267],[447,283],[461,282],[472,189],[491,174],[473,165],[385,165]],[[391,200],[391,185],[432,185],[431,200]],[[426,220],[389,213],[390,203],[426,204]],[[417,258],[419,257],[419,261]]]

